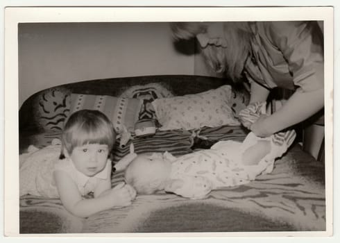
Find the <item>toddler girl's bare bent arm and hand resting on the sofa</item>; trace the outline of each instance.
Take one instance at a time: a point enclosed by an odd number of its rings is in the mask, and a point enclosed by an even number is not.
[[[130,188],[123,183],[102,192],[100,196],[94,199],[83,199],[76,183],[65,171],[56,170],[54,176],[62,204],[69,212],[78,217],[89,217],[96,212],[108,210],[115,206],[128,206],[133,199]],[[100,190],[103,190],[105,186],[101,185]],[[99,191],[96,194],[99,194]]]

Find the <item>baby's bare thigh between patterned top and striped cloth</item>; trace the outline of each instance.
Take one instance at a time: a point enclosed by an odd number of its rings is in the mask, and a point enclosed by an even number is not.
[[[242,154],[244,165],[257,165],[271,151],[271,142],[260,140]]]

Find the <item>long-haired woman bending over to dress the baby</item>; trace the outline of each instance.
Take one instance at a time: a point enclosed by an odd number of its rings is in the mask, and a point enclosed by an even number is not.
[[[176,39],[196,37],[215,72],[250,82],[250,107],[266,101],[270,90],[295,90],[282,108],[253,124],[267,137],[303,121],[323,108],[323,34],[317,22],[180,22],[171,24]]]

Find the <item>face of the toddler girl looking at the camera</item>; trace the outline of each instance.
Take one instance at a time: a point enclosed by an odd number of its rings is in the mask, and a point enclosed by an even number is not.
[[[71,153],[74,167],[85,176],[94,176],[105,168],[108,162],[108,145],[84,144],[76,146]]]

